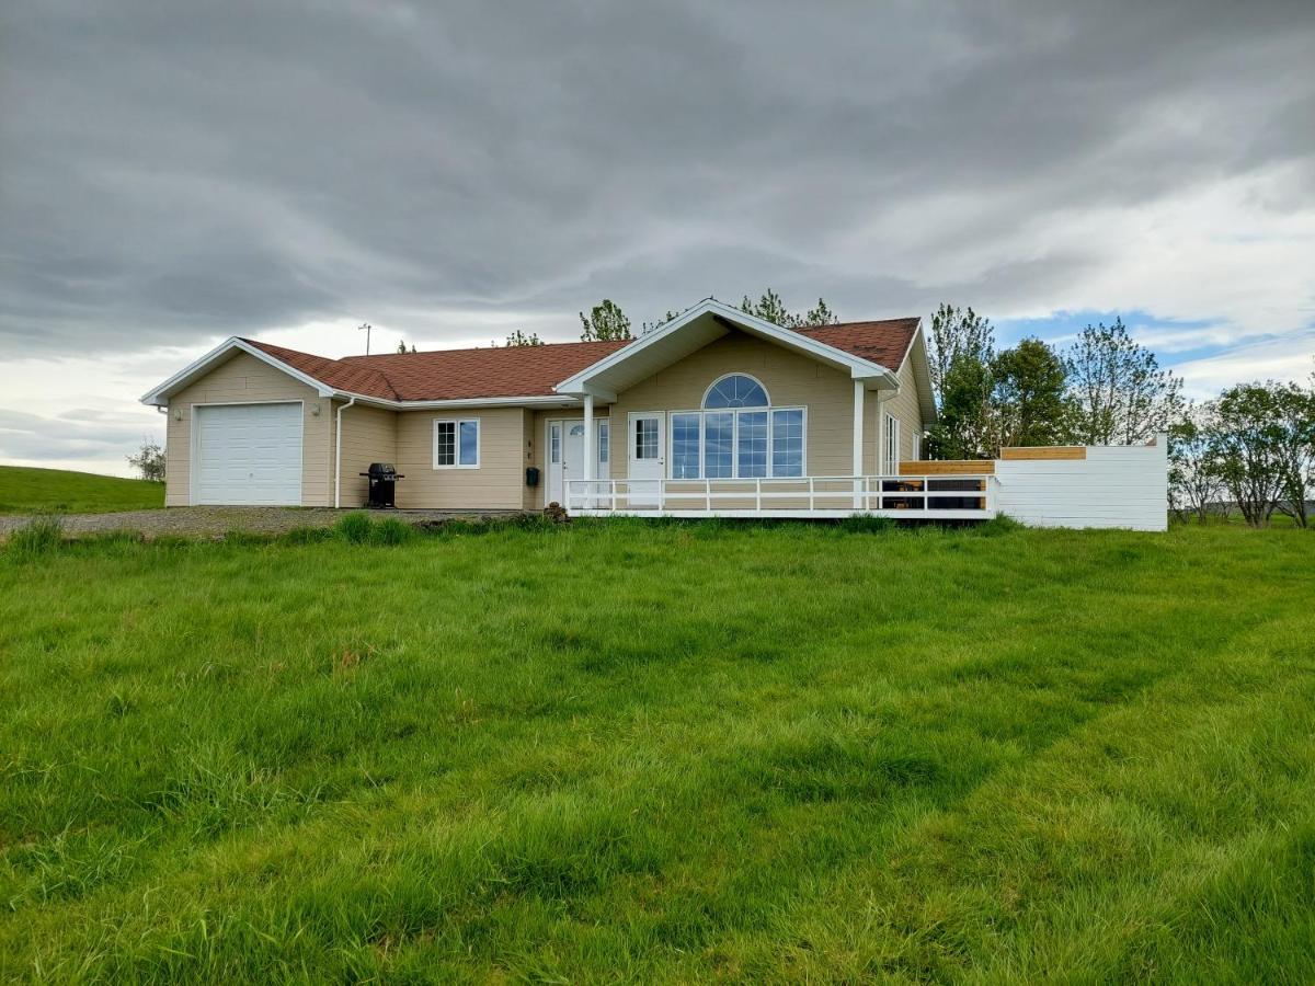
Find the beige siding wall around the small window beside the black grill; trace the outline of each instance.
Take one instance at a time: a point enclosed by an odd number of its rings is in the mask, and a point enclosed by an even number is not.
[[[351,411],[347,411],[348,414]],[[480,421],[480,464],[434,468],[434,422]],[[397,506],[409,509],[519,510],[525,504],[525,421],[521,408],[400,411]]]

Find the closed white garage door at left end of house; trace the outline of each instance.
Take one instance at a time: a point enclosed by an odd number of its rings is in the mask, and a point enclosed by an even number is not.
[[[196,502],[301,502],[301,405],[196,409]]]

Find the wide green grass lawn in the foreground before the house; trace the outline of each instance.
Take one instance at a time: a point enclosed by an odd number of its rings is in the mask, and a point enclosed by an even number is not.
[[[1315,535],[0,557],[0,978],[1315,979]]]

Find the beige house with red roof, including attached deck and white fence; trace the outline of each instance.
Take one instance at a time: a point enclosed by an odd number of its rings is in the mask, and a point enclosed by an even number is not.
[[[356,507],[387,461],[401,509],[1165,523],[1164,442],[923,461],[918,318],[782,329],[709,300],[618,342],[326,359],[233,338],[142,401],[168,413],[170,506]]]

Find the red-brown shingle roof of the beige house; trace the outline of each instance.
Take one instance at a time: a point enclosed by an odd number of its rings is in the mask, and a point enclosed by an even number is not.
[[[917,318],[892,318],[798,331],[861,359],[898,369],[917,329]],[[551,396],[556,384],[631,340],[393,352],[343,359],[313,356],[255,339],[245,342],[338,390],[389,401],[460,401]]]

